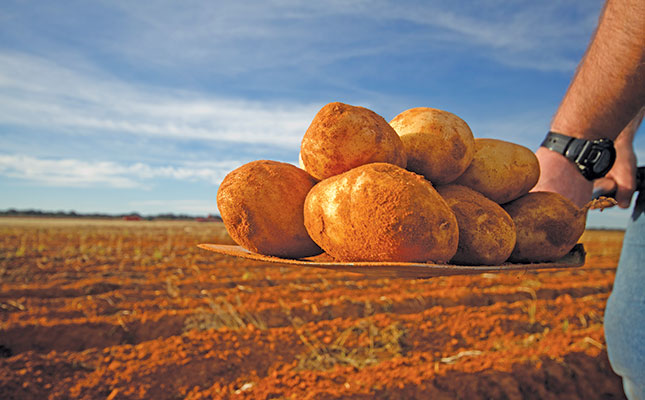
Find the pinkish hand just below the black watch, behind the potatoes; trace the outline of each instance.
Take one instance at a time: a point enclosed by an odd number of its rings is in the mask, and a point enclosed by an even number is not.
[[[535,155],[540,162],[540,179],[531,190],[560,193],[582,207],[591,200],[593,184],[562,154],[540,147]]]

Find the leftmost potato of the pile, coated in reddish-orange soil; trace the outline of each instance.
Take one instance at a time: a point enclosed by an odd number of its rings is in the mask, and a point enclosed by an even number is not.
[[[303,207],[316,181],[302,169],[269,160],[233,170],[217,191],[217,207],[229,235],[245,249],[300,258],[322,250],[307,234]]]

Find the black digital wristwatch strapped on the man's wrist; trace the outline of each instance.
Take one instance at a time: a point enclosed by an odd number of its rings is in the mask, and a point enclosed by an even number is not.
[[[565,156],[590,181],[607,175],[616,161],[616,149],[610,139],[585,140],[549,132],[541,146]]]

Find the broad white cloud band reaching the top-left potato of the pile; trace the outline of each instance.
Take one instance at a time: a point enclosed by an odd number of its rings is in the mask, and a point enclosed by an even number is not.
[[[294,147],[320,107],[162,91],[21,53],[0,65],[0,123],[50,131]]]

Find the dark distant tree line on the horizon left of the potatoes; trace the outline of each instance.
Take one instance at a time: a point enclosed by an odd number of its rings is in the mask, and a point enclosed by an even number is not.
[[[188,215],[188,214],[155,214],[143,216],[137,212],[125,214],[105,213],[77,213],[76,211],[43,211],[43,210],[0,210],[0,217],[49,217],[49,218],[102,218],[102,219],[131,219],[131,220],[199,220],[199,221],[221,221],[219,215]]]

